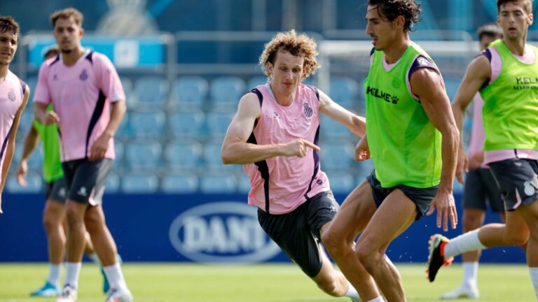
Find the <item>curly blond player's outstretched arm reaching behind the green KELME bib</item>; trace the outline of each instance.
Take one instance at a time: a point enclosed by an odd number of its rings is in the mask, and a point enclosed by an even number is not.
[[[366,135],[366,118],[351,113],[322,91],[319,91],[319,112],[345,125],[357,136]]]

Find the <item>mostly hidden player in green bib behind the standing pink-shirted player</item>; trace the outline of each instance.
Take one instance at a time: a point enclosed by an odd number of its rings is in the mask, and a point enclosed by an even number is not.
[[[60,50],[56,46],[48,48],[44,59],[57,57]],[[52,110],[49,105],[47,110]],[[43,287],[30,293],[30,296],[57,296],[60,294],[60,273],[64,259],[65,234],[67,224],[65,222],[65,187],[64,172],[60,161],[60,138],[58,137],[57,124],[44,126],[38,120],[34,120],[25,137],[25,145],[22,149],[22,157],[17,169],[17,181],[22,187],[26,187],[25,180],[28,173],[28,159],[32,151],[39,143],[43,142],[43,179],[46,182],[46,203],[43,210],[43,225],[45,226],[48,242],[49,271],[48,278]],[[90,235],[85,233],[85,254],[99,264],[99,257],[93,251]],[[108,292],[108,280],[104,278],[103,290]]]

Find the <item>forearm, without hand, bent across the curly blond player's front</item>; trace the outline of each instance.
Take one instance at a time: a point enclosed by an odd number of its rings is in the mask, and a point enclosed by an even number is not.
[[[244,142],[223,146],[221,152],[223,164],[254,164],[281,155],[284,155],[283,145],[254,145]]]

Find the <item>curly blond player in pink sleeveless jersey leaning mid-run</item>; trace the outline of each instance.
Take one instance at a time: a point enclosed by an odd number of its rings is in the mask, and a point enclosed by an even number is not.
[[[268,83],[239,101],[222,145],[224,164],[242,164],[249,175],[249,205],[263,230],[331,296],[360,301],[320,243],[338,203],[319,163],[319,113],[364,136],[365,122],[301,81],[315,73],[317,45],[305,34],[277,34],[259,63]],[[335,154],[338,156],[338,154]]]

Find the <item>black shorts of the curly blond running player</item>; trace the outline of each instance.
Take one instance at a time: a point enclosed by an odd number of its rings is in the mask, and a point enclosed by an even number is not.
[[[291,213],[273,215],[258,208],[258,222],[282,251],[308,277],[314,278],[322,269],[319,229],[333,220],[338,208],[333,193],[322,192]]]

